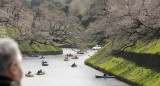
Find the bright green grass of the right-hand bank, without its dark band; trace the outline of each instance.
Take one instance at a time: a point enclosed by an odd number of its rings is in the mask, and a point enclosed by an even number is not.
[[[86,62],[139,85],[159,86],[160,71],[158,68],[149,68],[146,65],[137,64],[136,61],[127,60],[123,56],[109,55],[108,53],[111,45],[111,43],[108,43],[95,55],[87,59]],[[159,46],[159,40],[154,40],[152,42],[139,41],[135,46],[127,48],[125,51],[137,54],[159,54]],[[141,59],[141,57],[138,58]],[[159,57],[156,58],[159,59]]]

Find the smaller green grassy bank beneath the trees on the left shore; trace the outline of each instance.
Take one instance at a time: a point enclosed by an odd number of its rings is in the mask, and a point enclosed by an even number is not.
[[[3,32],[2,32],[3,31]],[[16,39],[17,36],[20,35],[20,32],[17,28],[13,27],[4,27],[1,28],[1,33],[3,33],[3,37],[11,37],[13,39]],[[36,38],[36,40],[31,44],[31,40],[25,40],[25,41],[19,41],[19,48],[22,52],[61,52],[62,49],[58,48],[56,44],[53,42],[45,41],[41,38]],[[44,43],[44,44],[43,44]]]

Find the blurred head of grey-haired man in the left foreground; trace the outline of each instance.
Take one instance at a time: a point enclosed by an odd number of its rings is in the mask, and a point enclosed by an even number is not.
[[[22,56],[18,44],[9,38],[0,39],[0,76],[11,84],[20,86],[22,78]],[[8,86],[8,85],[7,85]],[[10,86],[10,85],[9,85]]]

